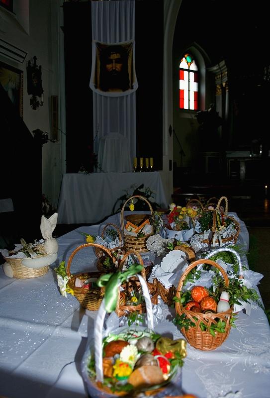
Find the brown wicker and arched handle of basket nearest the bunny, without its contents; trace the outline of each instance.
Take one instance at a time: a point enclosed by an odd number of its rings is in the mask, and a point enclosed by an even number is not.
[[[74,296],[77,298],[77,300],[80,302],[80,304],[84,308],[89,309],[90,311],[95,311],[99,308],[99,306],[101,304],[102,298],[105,293],[105,288],[92,288],[92,289],[87,289],[87,288],[83,288],[83,287],[77,288],[75,286],[75,280],[81,274],[71,275],[71,272],[70,272],[71,262],[72,262],[73,257],[75,256],[75,254],[79,250],[84,249],[85,247],[89,247],[89,246],[103,250],[107,256],[109,256],[110,258],[113,257],[112,254],[110,253],[110,251],[108,249],[106,249],[104,246],[97,245],[95,243],[85,243],[85,244],[77,247],[71,253],[70,258],[68,260],[67,267],[66,267],[66,273],[67,273],[67,276],[70,277],[68,285],[73,290]],[[84,273],[84,275],[85,274],[87,274],[87,278],[99,278],[102,275],[101,272],[89,272],[89,273]]]

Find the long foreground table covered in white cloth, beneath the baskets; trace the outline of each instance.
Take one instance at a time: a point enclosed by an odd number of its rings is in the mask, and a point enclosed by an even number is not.
[[[119,225],[119,214],[106,220]],[[55,265],[68,260],[84,242],[80,232],[98,235],[103,224],[82,226],[58,238]],[[248,248],[248,231],[241,221],[239,242]],[[243,263],[248,266],[246,256]],[[79,251],[71,272],[94,269],[92,248]],[[10,279],[0,270],[0,395],[8,398],[86,398],[80,363],[87,337],[92,336],[96,311],[83,310],[78,300],[60,295],[52,270],[39,278]],[[256,288],[257,289],[257,288]],[[257,289],[258,290],[258,289]],[[259,292],[259,291],[258,291]],[[182,337],[171,322],[174,309],[160,301],[162,319],[156,330]],[[182,389],[198,398],[270,396],[270,326],[264,311],[252,305],[241,311],[227,340],[214,351],[187,345]]]

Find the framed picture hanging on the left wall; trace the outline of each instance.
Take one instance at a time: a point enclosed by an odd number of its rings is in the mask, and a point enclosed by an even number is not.
[[[23,118],[23,71],[0,61],[0,83]]]

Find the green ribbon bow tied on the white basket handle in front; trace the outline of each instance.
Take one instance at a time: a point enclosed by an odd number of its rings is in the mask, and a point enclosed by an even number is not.
[[[117,271],[114,274],[101,275],[96,283],[100,288],[106,287],[104,295],[106,312],[112,312],[116,309],[119,285],[122,285],[128,278],[141,272],[142,269],[142,265],[132,264],[127,271]]]

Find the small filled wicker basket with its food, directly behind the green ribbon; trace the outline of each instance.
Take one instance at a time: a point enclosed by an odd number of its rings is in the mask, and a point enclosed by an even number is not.
[[[122,257],[118,270],[122,271],[123,264],[130,254],[135,254],[139,260],[139,264],[143,266],[143,259],[140,253],[136,250],[129,250]],[[142,268],[141,275],[148,288],[152,304],[158,303],[158,292],[153,283],[146,282],[145,268]],[[145,300],[142,292],[142,286],[137,278],[130,278],[124,284],[121,285],[119,290],[119,299],[117,301],[117,307],[115,312],[118,316],[126,315],[130,312],[143,313],[146,311]]]

